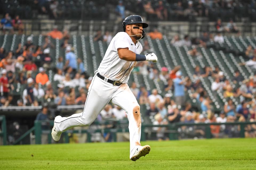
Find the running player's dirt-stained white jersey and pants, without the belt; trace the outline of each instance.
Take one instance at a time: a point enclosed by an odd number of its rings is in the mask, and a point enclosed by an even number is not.
[[[117,33],[111,40],[98,70],[95,71],[83,112],[69,117],[62,117],[58,120],[55,119],[55,123],[56,129],[60,132],[75,126],[90,125],[109,102],[118,105],[126,111],[129,120],[131,158],[133,148],[136,145],[140,145],[141,117],[139,104],[127,85],[131,71],[137,61],[122,60],[117,53],[118,48],[127,47],[137,54],[142,51],[142,45],[139,42],[134,44],[126,32]],[[105,76],[105,79],[100,79],[96,75],[97,73]],[[123,84],[114,86],[107,82],[108,79],[119,81]]]

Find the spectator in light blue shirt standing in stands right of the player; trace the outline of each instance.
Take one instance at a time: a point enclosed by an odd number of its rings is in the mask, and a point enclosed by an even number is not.
[[[184,84],[187,81],[188,77],[182,80],[181,75],[182,75],[181,71],[177,71],[176,78],[173,79],[174,97],[177,105],[184,106],[185,105],[185,85]]]

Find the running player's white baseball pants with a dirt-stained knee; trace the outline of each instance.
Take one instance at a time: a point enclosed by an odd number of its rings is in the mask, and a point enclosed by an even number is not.
[[[141,116],[139,104],[127,83],[113,86],[94,75],[83,112],[55,120],[56,129],[64,132],[75,126],[89,126],[109,101],[126,111],[129,120],[131,155],[133,148],[141,145]]]

